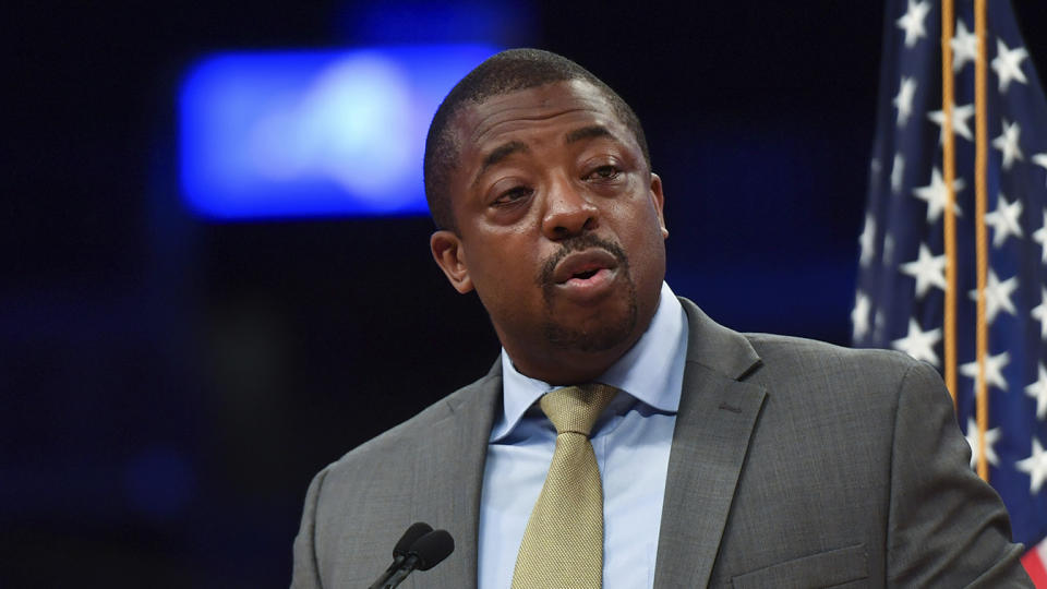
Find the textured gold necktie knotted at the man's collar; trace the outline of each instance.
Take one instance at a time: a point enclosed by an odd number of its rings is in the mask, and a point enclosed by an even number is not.
[[[617,389],[568,386],[539,405],[556,426],[556,449],[524,532],[513,589],[597,588],[603,580],[603,485],[589,431]]]

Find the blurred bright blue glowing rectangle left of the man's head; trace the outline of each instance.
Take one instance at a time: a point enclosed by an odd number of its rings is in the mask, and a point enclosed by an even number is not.
[[[424,214],[436,107],[481,45],[225,53],[180,101],[182,196],[216,220]]]

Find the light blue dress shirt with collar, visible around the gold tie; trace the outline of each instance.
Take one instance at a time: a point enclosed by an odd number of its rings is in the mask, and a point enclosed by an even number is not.
[[[669,285],[647,332],[597,382],[623,390],[593,426],[603,480],[603,587],[654,584],[669,450],[687,354],[687,317]],[[556,430],[535,401],[553,386],[516,371],[502,350],[503,413],[488,446],[480,500],[479,585],[508,588],[527,520],[545,482]]]

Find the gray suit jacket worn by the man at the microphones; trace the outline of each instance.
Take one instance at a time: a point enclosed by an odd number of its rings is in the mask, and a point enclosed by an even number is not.
[[[654,586],[1032,587],[949,396],[895,352],[690,326]],[[413,521],[456,550],[402,587],[476,587],[480,486],[501,407],[483,378],[321,471],[293,587],[366,587]],[[412,585],[413,584],[413,585]]]

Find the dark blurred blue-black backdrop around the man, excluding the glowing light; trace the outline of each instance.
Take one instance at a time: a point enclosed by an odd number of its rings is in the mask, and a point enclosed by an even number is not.
[[[425,218],[189,216],[176,97],[210,51],[564,53],[645,123],[676,292],[737,329],[846,344],[881,8],[679,4],[5,11],[0,586],[285,587],[311,476],[496,357],[476,297],[432,263]],[[1026,31],[1044,23],[1033,4],[1016,3]]]

